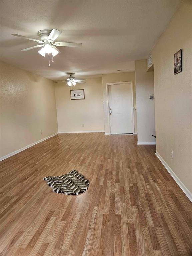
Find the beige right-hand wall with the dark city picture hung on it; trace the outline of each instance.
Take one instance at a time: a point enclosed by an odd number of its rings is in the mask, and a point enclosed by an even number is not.
[[[183,71],[174,75],[173,56],[181,48]],[[192,192],[192,1],[182,3],[152,57],[157,152]]]

